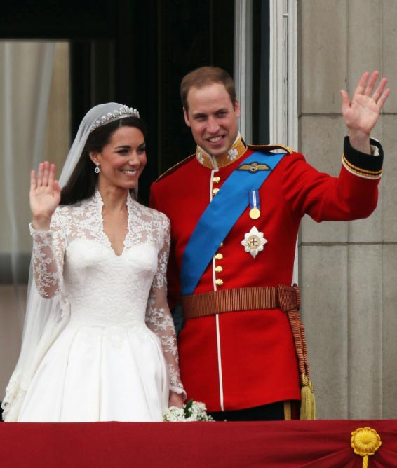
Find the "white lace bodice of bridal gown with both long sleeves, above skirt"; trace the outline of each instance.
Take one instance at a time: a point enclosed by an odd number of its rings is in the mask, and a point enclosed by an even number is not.
[[[165,215],[128,196],[128,233],[116,255],[103,230],[98,191],[76,205],[60,206],[51,230],[34,230],[33,268],[43,297],[67,298],[70,322],[128,327],[161,342],[170,390],[183,393],[173,319],[166,301],[170,225]]]

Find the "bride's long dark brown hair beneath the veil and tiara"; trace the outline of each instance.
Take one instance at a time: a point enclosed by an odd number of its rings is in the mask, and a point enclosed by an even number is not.
[[[67,184],[62,188],[60,205],[73,205],[93,195],[98,175],[94,171],[95,164],[91,160],[89,153],[90,151],[100,153],[105,144],[109,143],[113,132],[120,127],[136,127],[146,137],[146,125],[142,121],[142,118],[137,117],[119,118],[117,121],[101,125],[93,130],[87,139],[79,162],[74,167],[74,171],[69,177]]]

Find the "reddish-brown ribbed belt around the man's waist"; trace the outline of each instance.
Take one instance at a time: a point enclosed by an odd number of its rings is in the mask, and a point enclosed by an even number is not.
[[[275,309],[283,312],[300,308],[300,292],[297,286],[262,286],[222,289],[201,294],[182,296],[185,319],[243,310]]]

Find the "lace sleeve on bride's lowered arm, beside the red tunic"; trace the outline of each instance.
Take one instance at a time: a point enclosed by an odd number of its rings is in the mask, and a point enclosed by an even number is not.
[[[161,341],[170,376],[170,390],[183,394],[184,398],[186,398],[180,380],[175,327],[167,304],[166,270],[170,251],[170,222],[168,219],[165,220],[164,224],[163,247],[159,252],[157,271],[147,303],[146,324]]]

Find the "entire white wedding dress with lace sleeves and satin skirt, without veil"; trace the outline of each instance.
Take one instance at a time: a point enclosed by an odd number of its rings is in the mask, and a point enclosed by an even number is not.
[[[128,196],[117,256],[103,230],[99,192],[58,207],[33,230],[41,296],[62,294],[70,318],[43,355],[18,421],[161,421],[169,390],[183,393],[166,305],[169,221]]]

